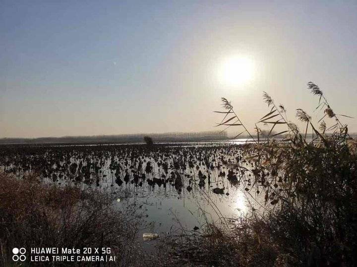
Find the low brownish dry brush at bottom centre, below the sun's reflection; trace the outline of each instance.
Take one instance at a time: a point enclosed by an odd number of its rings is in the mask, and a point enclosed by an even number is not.
[[[263,220],[244,218],[230,226],[209,223],[202,231],[171,232],[161,239],[159,257],[148,266],[274,266],[282,257],[280,262],[296,263],[280,254]]]

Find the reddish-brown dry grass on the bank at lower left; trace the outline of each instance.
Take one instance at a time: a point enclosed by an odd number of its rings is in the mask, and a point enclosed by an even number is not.
[[[0,218],[4,266],[13,247],[110,247],[118,265],[135,260],[140,217],[131,208],[115,211],[104,193],[0,174]]]

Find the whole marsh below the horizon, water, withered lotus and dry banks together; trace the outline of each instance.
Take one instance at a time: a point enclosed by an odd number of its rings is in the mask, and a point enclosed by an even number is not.
[[[21,244],[111,248],[115,266],[351,266],[356,141],[320,138],[0,145],[1,261]]]

